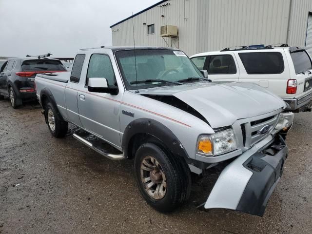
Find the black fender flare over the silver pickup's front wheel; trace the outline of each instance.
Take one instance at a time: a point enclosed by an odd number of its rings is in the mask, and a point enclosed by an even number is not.
[[[162,123],[149,118],[139,118],[127,125],[122,137],[124,156],[134,158],[136,149],[144,140],[158,142],[175,156],[189,158],[176,135]]]

